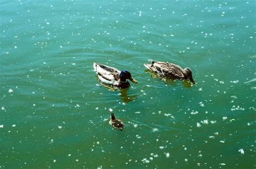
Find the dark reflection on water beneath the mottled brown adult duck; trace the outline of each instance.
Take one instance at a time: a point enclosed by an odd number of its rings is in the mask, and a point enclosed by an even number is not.
[[[181,86],[181,84],[183,84],[183,86],[185,88],[190,88],[193,86],[193,84],[189,80],[180,80],[181,83],[178,83],[177,81],[179,81],[179,80],[175,80],[175,79],[171,79],[171,78],[164,78],[163,76],[160,76],[154,72],[149,71],[149,69],[146,69],[144,72],[150,73],[151,78],[153,78],[153,79],[158,78],[168,86],[178,87],[178,86]]]

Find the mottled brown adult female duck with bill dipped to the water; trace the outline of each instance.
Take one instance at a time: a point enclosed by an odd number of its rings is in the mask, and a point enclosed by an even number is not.
[[[182,69],[180,66],[166,63],[166,62],[160,62],[160,61],[153,61],[149,60],[151,62],[150,64],[144,64],[144,66],[149,69],[150,71],[157,73],[161,77],[164,78],[170,78],[170,79],[180,79],[180,80],[186,80],[189,79],[191,83],[195,83],[192,78],[192,71],[190,68],[186,67]]]

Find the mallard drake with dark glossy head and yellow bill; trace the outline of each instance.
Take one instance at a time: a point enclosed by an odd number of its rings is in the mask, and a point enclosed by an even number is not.
[[[116,68],[98,63],[93,63],[93,67],[97,72],[99,80],[108,85],[112,85],[118,88],[127,88],[130,86],[130,83],[127,81],[127,79],[133,83],[137,83],[137,81],[132,78],[132,75],[129,71],[119,71]]]

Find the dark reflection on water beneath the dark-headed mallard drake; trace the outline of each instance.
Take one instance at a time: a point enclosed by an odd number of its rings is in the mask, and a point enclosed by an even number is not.
[[[109,89],[109,91],[117,91],[117,90],[119,90],[120,94],[118,94],[118,95],[120,96],[120,100],[123,101],[124,103],[129,103],[131,101],[134,101],[138,97],[137,94],[129,95],[128,91],[129,91],[130,87],[125,88],[125,89],[120,89],[118,87],[114,87],[114,86],[111,86],[111,85],[107,85],[106,83],[103,83],[102,81],[99,80],[97,75],[96,75],[96,79],[98,80],[100,85],[102,85],[103,87]]]

